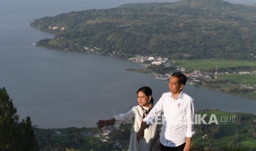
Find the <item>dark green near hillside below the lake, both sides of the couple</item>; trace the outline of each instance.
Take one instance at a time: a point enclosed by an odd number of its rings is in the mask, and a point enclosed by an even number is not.
[[[201,118],[198,118],[200,115]],[[206,115],[204,117],[204,115]],[[256,150],[256,115],[231,113],[219,110],[202,110],[195,113],[195,135],[192,139],[193,151],[248,151]],[[202,118],[204,117],[204,118]],[[210,122],[216,117],[215,122]],[[213,118],[214,119],[214,118]],[[199,123],[199,120],[204,120]],[[36,129],[36,138],[40,150],[127,150],[132,125],[123,125],[120,130],[110,129],[108,135],[102,135],[97,127],[67,129]],[[56,132],[59,132],[57,135]],[[88,133],[91,135],[86,135]],[[96,135],[100,135],[96,137]],[[102,140],[106,139],[106,142]],[[116,144],[122,147],[116,146]]]

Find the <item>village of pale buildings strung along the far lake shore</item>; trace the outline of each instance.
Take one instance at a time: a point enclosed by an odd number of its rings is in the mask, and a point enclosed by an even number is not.
[[[94,48],[88,48],[84,47],[84,51],[87,53],[95,53],[95,54],[101,54],[100,53],[101,48],[94,47]],[[107,55],[109,56],[120,56],[117,51],[112,51],[111,53],[108,53]],[[127,54],[122,54],[125,56],[125,59],[128,59],[129,61],[140,63],[140,65],[144,66],[145,68],[150,68],[152,66],[162,66],[164,68],[175,68],[173,72],[180,71],[183,72],[187,77],[188,77],[188,82],[187,84],[198,84],[201,85],[203,83],[208,83],[208,82],[214,82],[217,78],[218,75],[223,75],[223,74],[256,74],[256,71],[232,71],[232,72],[223,72],[218,70],[217,66],[215,69],[211,71],[199,71],[199,70],[194,70],[194,71],[188,71],[184,67],[179,67],[178,63],[175,61],[171,61],[167,57],[162,57],[162,56],[152,56],[152,55],[135,55],[132,57],[128,57]],[[186,55],[186,54],[184,54]],[[203,66],[203,65],[202,65]],[[157,72],[150,72],[152,76],[154,76],[155,79],[158,80],[168,80],[172,74],[172,72],[166,72],[166,73],[157,73]],[[251,86],[247,84],[242,85],[243,89],[249,89],[249,90],[255,90],[256,86]]]

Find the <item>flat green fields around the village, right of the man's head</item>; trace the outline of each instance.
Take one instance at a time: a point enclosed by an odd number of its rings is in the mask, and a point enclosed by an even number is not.
[[[199,79],[199,85],[204,88],[225,92],[237,96],[243,96],[256,100],[256,61],[201,59],[201,60],[171,60],[176,62],[177,68],[185,68],[192,72],[208,71],[214,77],[217,67],[217,79],[203,81]]]

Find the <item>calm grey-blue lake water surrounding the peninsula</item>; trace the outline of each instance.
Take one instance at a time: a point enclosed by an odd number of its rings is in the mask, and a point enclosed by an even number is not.
[[[6,87],[20,119],[31,117],[41,128],[93,127],[98,119],[137,105],[136,91],[148,85],[155,102],[168,91],[167,81],[125,71],[143,68],[110,56],[39,48],[32,43],[53,37],[30,27],[32,20],[69,11],[117,7],[149,0],[9,0],[0,5],[0,87]],[[157,1],[170,2],[170,1]],[[195,109],[256,114],[256,101],[186,85]]]

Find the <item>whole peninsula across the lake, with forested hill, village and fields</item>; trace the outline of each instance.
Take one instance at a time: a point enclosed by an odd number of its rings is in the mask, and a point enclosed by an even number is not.
[[[162,79],[178,70],[190,84],[256,100],[255,14],[254,5],[183,0],[72,11],[30,25],[56,34],[39,47],[129,59]]]

